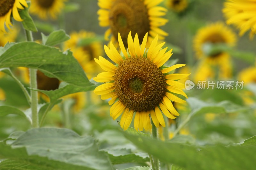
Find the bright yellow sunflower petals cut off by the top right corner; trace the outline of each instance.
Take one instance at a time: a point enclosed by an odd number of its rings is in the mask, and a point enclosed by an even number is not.
[[[255,0],[228,0],[224,3],[223,13],[227,24],[240,29],[240,36],[251,29],[250,38],[256,33]]]

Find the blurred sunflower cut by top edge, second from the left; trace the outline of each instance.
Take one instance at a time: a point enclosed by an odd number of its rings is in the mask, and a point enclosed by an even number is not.
[[[31,0],[29,9],[31,14],[38,15],[39,18],[46,20],[49,16],[56,19],[64,8],[67,0]]]

